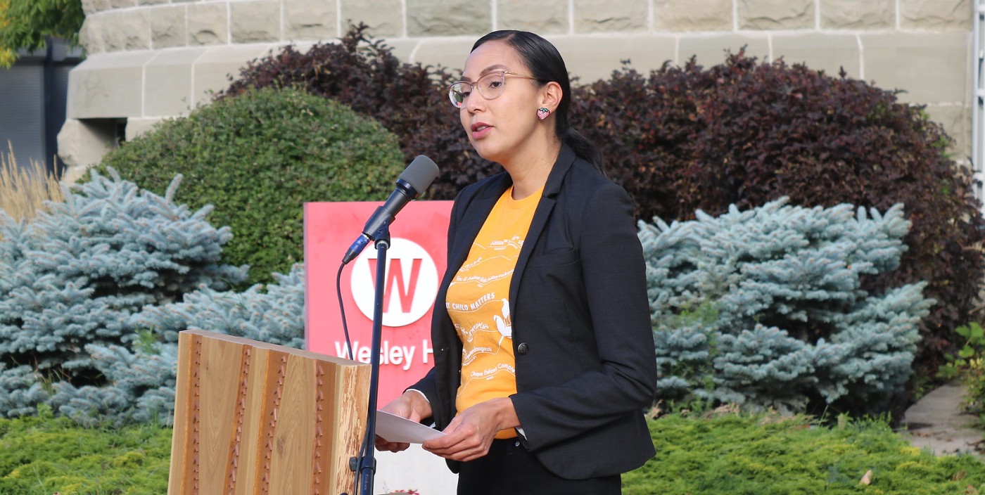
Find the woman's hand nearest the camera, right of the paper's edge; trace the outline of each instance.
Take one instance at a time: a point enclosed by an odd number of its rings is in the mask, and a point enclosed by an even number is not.
[[[520,426],[516,409],[509,398],[480,402],[459,412],[445,436],[429,440],[424,449],[435,456],[452,461],[473,461],[489,454],[493,437],[499,430]]]

